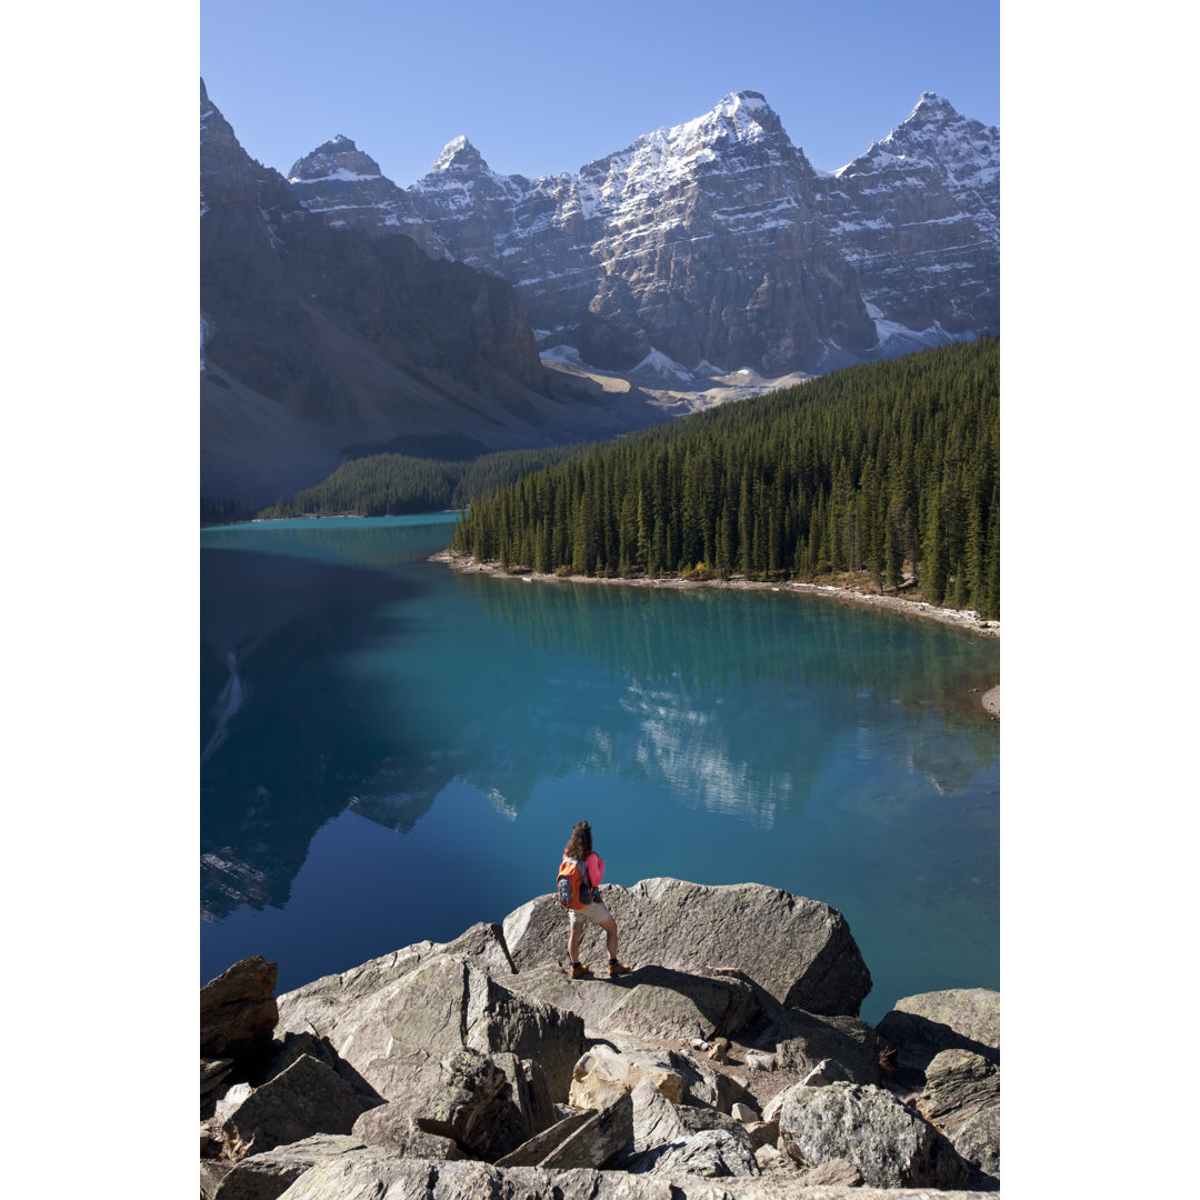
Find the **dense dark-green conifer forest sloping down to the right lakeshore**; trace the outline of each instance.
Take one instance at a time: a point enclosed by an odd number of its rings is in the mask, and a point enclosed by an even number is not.
[[[906,575],[1000,616],[1000,342],[851,367],[589,446],[504,486],[452,548],[629,577]]]

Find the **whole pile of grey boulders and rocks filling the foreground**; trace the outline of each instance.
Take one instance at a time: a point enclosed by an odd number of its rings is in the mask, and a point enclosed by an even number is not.
[[[871,988],[836,910],[606,887],[635,970],[566,977],[553,895],[275,997],[200,991],[205,1200],[814,1200],[1000,1189],[1000,994]],[[594,958],[588,958],[588,955]],[[853,1189],[853,1190],[848,1190]]]

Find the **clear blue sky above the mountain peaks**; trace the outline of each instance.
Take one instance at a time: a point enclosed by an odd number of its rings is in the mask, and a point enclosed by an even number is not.
[[[575,172],[731,91],[833,170],[923,91],[1000,124],[998,0],[200,0],[200,74],[287,173],[342,133],[407,186],[458,134],[490,166]]]

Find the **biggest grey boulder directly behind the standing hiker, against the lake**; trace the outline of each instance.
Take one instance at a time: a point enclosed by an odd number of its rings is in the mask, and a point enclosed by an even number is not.
[[[620,930],[622,959],[702,973],[733,967],[766,989],[785,1008],[832,1016],[857,1016],[871,990],[845,917],[761,883],[709,887],[682,880],[643,880],[631,888],[602,889]],[[602,934],[584,932],[604,961]],[[560,962],[565,919],[554,895],[522,905],[504,919],[504,940],[518,971]]]

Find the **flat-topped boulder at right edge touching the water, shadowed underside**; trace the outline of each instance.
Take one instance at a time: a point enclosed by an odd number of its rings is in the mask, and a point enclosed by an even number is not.
[[[876,1026],[902,1066],[924,1070],[943,1050],[970,1050],[1000,1064],[1000,992],[954,988],[906,996]]]

